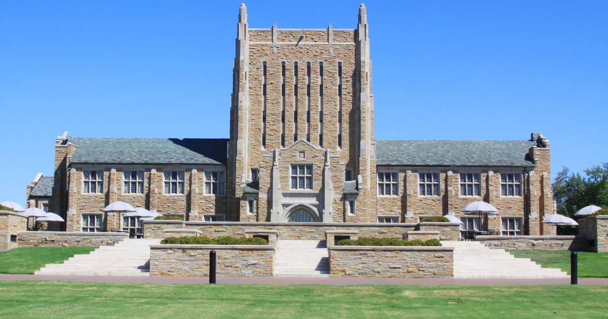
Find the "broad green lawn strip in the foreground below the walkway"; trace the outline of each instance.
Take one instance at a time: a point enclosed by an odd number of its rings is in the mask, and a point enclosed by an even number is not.
[[[0,283],[0,317],[604,317],[607,286]]]

